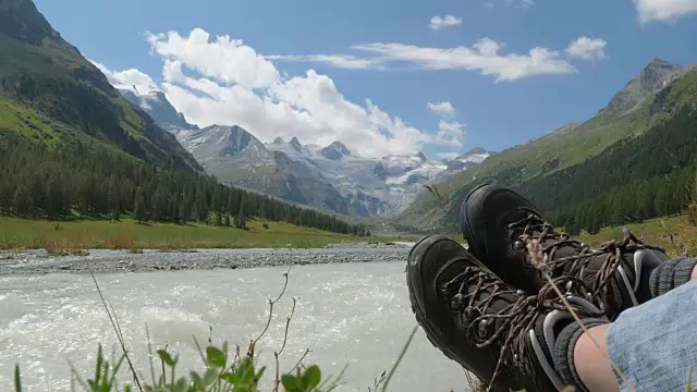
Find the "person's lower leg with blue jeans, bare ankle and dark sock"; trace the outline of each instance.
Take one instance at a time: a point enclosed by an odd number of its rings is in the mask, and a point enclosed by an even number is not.
[[[697,268],[689,277],[697,278]],[[684,391],[690,367],[697,367],[695,303],[697,281],[690,281],[625,310],[615,322],[587,332],[571,323],[557,340],[555,368],[568,384],[589,392]]]

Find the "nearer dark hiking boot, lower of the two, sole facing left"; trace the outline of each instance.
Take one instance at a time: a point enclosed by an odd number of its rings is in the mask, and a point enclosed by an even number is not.
[[[490,390],[543,392],[574,384],[554,364],[573,353],[571,346],[560,354],[558,338],[576,322],[550,285],[526,294],[444,236],[427,236],[412,248],[406,280],[430,342]],[[608,322],[583,298],[582,282],[560,278],[557,284],[568,290],[566,298],[586,326]]]

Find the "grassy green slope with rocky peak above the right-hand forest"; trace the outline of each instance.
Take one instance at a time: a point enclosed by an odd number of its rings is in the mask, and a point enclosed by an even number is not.
[[[592,119],[582,124],[565,125],[538,139],[509,148],[487,159],[477,169],[455,175],[452,181],[438,185],[439,193],[448,200],[445,206],[436,204],[431,195],[424,193],[402,213],[398,222],[419,229],[457,230],[455,206],[470,188],[484,181],[525,191],[535,203],[552,212],[553,217],[566,220],[566,216],[582,213],[576,211],[582,199],[553,197],[561,188],[585,194],[578,189],[584,186],[588,188],[587,182],[590,179],[570,173],[588,170],[583,168],[594,168],[596,176],[604,177],[614,172],[614,168],[603,167],[599,162],[608,159],[607,155],[620,148],[625,140],[641,139],[678,113],[686,117],[685,123],[689,123],[690,111],[685,113],[684,108],[694,108],[696,105],[695,72],[695,66],[681,68],[653,60]],[[625,154],[627,152],[623,152]],[[662,164],[659,161],[668,159],[667,157],[670,157],[670,150],[660,154],[657,151],[653,156],[643,156],[639,159]],[[684,164],[677,166],[683,167]],[[628,181],[617,176],[613,179],[619,183]],[[545,189],[546,194],[536,192],[537,188]],[[596,196],[604,199],[611,188],[601,188],[598,192],[602,196]]]

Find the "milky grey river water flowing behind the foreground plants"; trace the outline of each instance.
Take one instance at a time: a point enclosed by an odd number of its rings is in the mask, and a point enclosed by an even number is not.
[[[167,257],[167,256],[163,256]],[[283,286],[285,267],[100,273],[136,367],[149,378],[146,324],[154,350],[180,353],[180,375],[200,368],[193,335],[207,343],[230,341],[246,348],[262,329],[268,299]],[[269,364],[283,342],[285,317],[297,299],[281,369],[306,348],[304,364],[323,375],[347,365],[340,391],[368,391],[389,370],[416,324],[406,291],[404,262],[294,266],[285,295],[274,307],[259,363]],[[97,344],[108,353],[117,340],[94,282],[84,273],[0,277],[0,390],[10,390],[21,365],[27,391],[70,390],[69,362],[83,375],[94,370]],[[462,368],[447,359],[419,329],[398,369],[391,391],[465,391]],[[266,388],[265,390],[268,390]]]

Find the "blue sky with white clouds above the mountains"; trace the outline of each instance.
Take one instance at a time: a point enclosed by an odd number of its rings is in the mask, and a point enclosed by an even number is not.
[[[366,157],[503,150],[592,117],[655,58],[697,61],[697,0],[35,0],[117,87],[187,121]]]

